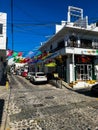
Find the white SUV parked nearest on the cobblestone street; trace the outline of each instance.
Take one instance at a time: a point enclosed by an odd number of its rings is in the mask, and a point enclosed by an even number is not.
[[[33,83],[47,82],[47,76],[44,72],[35,72],[31,76],[30,81],[33,82]]]

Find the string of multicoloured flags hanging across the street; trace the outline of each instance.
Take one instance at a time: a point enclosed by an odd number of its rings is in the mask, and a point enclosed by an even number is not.
[[[13,61],[15,63],[38,63],[42,60],[45,60],[51,56],[50,53],[44,52],[42,53],[40,50],[37,50],[35,52],[30,51],[28,54],[24,56],[23,52],[16,52],[12,51],[10,49],[7,50],[7,58],[13,58]]]

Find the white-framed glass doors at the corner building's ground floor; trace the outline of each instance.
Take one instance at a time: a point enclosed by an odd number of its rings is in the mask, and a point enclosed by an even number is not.
[[[76,80],[92,80],[92,64],[76,64]]]

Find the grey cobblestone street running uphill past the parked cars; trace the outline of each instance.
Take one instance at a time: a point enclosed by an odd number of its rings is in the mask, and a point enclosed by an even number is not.
[[[98,130],[98,99],[10,77],[9,130]],[[6,108],[7,109],[7,108]]]

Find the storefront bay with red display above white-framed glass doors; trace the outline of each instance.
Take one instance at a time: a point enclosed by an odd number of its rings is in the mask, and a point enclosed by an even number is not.
[[[94,80],[94,56],[75,56],[75,79],[80,81]]]

